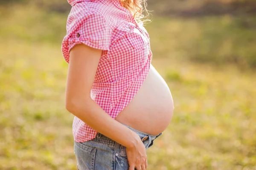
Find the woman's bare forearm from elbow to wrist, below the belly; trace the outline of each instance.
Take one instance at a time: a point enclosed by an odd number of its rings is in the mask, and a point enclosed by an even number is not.
[[[97,132],[102,133],[125,147],[133,147],[136,144],[138,138],[136,138],[134,132],[111,118],[91,98],[87,98],[85,102],[79,103],[76,103],[76,106],[73,105],[73,108],[69,109],[69,111],[81,119],[81,121],[84,121],[84,123]]]

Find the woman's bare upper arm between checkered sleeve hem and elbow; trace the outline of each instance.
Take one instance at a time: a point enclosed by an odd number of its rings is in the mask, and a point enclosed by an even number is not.
[[[66,107],[90,98],[102,50],[78,44],[70,50],[67,73]]]

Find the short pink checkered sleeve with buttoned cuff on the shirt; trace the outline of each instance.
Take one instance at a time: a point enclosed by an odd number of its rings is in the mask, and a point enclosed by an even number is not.
[[[67,63],[69,63],[70,50],[79,43],[95,49],[109,50],[111,30],[102,14],[83,12],[82,14],[69,15],[67,35],[61,46],[62,54]]]

